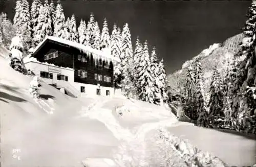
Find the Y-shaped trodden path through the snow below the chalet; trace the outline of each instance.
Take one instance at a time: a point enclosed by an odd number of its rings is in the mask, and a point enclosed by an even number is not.
[[[87,116],[102,122],[121,141],[118,150],[114,154],[114,161],[119,166],[148,166],[145,160],[145,135],[153,129],[169,127],[178,121],[175,118],[168,117],[165,120],[145,123],[129,130],[120,126],[111,110],[102,108],[106,102],[108,100],[104,100],[101,105],[94,106],[90,110],[85,108],[81,116]]]

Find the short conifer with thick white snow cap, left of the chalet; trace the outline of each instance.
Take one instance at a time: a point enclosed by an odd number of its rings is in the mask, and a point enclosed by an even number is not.
[[[24,67],[22,63],[22,58],[23,58],[24,46],[23,46],[22,39],[20,39],[20,37],[18,36],[13,37],[9,50],[10,50],[10,66],[16,71],[23,73]]]

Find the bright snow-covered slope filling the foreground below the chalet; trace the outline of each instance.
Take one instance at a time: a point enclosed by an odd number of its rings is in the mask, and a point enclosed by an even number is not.
[[[218,157],[203,152],[208,151],[208,145],[193,146],[198,144],[193,135],[186,137],[193,145],[180,138],[190,134],[191,128],[197,136],[204,135],[204,129],[193,128],[191,124],[185,124],[188,128],[179,131],[166,129],[184,125],[167,106],[124,97],[76,99],[44,82],[40,87],[42,101],[36,103],[28,94],[32,77],[13,70],[7,63],[8,51],[4,51],[0,51],[0,67],[4,71],[0,74],[3,166],[191,166],[187,163],[192,161],[200,161],[202,166],[207,163],[224,166]],[[167,141],[161,140],[163,131],[159,129],[167,131],[164,133]],[[237,163],[255,163],[251,155],[255,151],[251,147],[253,139],[237,140],[236,135],[218,131],[208,137],[216,136],[229,136],[232,147],[239,152],[250,151],[248,155],[243,153],[249,158]],[[222,147],[225,153],[223,156],[222,152],[222,158],[227,164],[234,164],[232,159],[239,153],[230,155],[230,145]],[[188,155],[184,156],[184,152]],[[161,156],[157,157],[158,153]],[[141,165],[141,160],[147,164]]]

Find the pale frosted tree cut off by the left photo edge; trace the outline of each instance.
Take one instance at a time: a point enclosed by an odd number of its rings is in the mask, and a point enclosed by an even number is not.
[[[16,31],[6,13],[0,14],[0,45],[9,46]]]

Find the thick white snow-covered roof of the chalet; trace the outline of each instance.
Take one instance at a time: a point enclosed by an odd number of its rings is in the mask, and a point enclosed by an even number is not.
[[[87,54],[91,53],[95,59],[101,58],[103,60],[120,62],[120,59],[112,56],[108,50],[100,51],[100,50],[92,49],[92,47],[90,46],[86,46],[81,43],[77,43],[67,39],[53,37],[53,36],[47,36],[42,42],[40,42],[35,47],[32,56],[34,56],[34,54],[37,53],[40,50],[41,46],[43,46],[48,40],[75,47],[76,49],[80,50],[83,53],[87,53]]]

